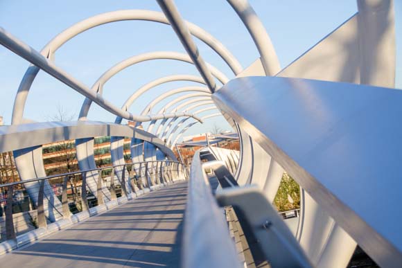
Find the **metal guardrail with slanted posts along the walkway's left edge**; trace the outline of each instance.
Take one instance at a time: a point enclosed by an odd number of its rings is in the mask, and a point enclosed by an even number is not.
[[[120,178],[116,172],[118,169],[124,171],[119,172]],[[91,193],[87,188],[87,172],[98,172],[96,193]],[[62,218],[55,222],[55,228],[60,229],[60,224],[65,224],[63,220],[79,222],[124,200],[155,190],[177,179],[186,178],[186,167],[180,162],[143,161],[1,184],[0,193],[3,198],[0,199],[0,212],[5,215],[5,220],[0,222],[4,224],[2,227],[5,229],[1,233],[2,240],[14,241],[11,244],[20,247],[21,243],[27,241],[21,240],[16,244],[17,235],[35,229],[49,229],[46,214],[51,213],[53,209],[62,215]],[[37,195],[36,204],[32,204],[33,202],[24,195],[24,186],[27,184],[36,189],[30,193]],[[61,201],[61,206],[55,206],[56,199]],[[36,213],[29,208],[36,208]],[[15,212],[18,210],[22,214],[19,213],[16,217]]]

